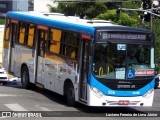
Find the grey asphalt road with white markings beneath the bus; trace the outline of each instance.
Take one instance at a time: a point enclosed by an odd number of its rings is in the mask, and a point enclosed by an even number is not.
[[[14,111],[14,112],[13,112]],[[148,113],[155,113],[159,111],[160,114],[160,89],[155,90],[154,104],[152,107],[87,107],[82,104],[77,104],[75,107],[70,107],[66,104],[64,97],[48,90],[35,88],[32,90],[25,90],[21,88],[20,83],[9,82],[7,85],[0,86],[0,118],[3,119],[28,119],[29,116],[38,118],[34,119],[74,119],[76,120],[115,120],[124,119],[139,119],[133,117],[135,113],[138,116],[148,115]],[[106,117],[106,115],[123,117]],[[129,113],[129,114],[128,114]],[[130,113],[132,117],[130,116]],[[6,117],[12,115],[12,118]],[[43,116],[42,118],[40,118]],[[18,117],[18,118],[17,118]],[[159,119],[158,117],[140,117],[141,119]]]

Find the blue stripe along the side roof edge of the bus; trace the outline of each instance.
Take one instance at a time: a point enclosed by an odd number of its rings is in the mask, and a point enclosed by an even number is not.
[[[62,30],[69,30],[69,31],[74,31],[79,33],[91,34],[92,37],[94,37],[95,28],[93,28],[92,26],[74,24],[74,23],[65,22],[65,21],[52,20],[52,19],[48,19],[47,16],[46,18],[43,18],[43,17],[33,16],[25,13],[22,14],[18,12],[8,12],[7,17],[25,21],[25,22],[34,23],[34,24],[41,24],[44,26],[58,28]]]

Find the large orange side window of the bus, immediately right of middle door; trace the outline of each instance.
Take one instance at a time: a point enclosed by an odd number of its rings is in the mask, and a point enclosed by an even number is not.
[[[59,54],[60,52],[60,41],[62,37],[62,31],[57,29],[51,29],[49,51]]]

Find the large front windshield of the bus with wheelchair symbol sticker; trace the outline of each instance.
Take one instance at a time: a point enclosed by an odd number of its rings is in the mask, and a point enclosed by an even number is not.
[[[93,74],[99,78],[136,79],[154,76],[152,45],[96,43]]]

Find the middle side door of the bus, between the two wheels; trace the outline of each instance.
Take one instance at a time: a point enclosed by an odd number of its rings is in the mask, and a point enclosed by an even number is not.
[[[38,58],[37,58],[37,74],[36,82],[40,85],[45,83],[45,47],[48,33],[46,30],[38,30]]]

